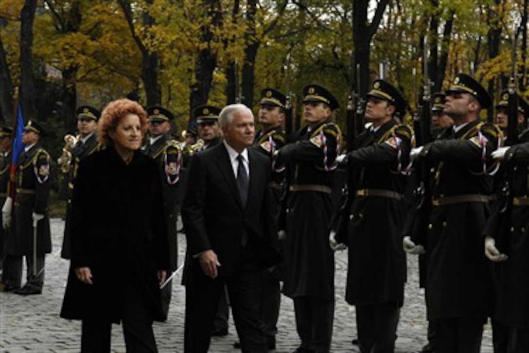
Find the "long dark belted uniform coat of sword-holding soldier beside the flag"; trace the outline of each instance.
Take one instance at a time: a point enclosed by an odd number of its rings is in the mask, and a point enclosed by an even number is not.
[[[49,177],[50,155],[40,143],[22,152],[16,164],[14,231],[8,236],[8,254],[33,255],[33,212],[44,215],[44,218],[37,223],[37,255],[51,252],[48,215]]]

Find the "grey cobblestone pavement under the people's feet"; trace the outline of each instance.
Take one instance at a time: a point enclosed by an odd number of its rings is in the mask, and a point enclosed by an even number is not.
[[[46,259],[46,273],[42,295],[19,296],[0,293],[0,352],[78,352],[80,347],[80,323],[59,318],[62,296],[68,271],[68,261],[60,258],[64,222],[51,220],[53,252]],[[184,259],[185,237],[179,234],[179,261]],[[344,283],[347,268],[346,251],[336,254],[336,310],[334,316],[333,352],[358,352],[351,344],[355,337],[354,307],[345,303]],[[180,282],[178,276],[177,282]],[[181,352],[184,342],[184,287],[173,286],[173,297],[166,323],[155,323],[160,353]],[[292,301],[283,296],[278,323],[277,352],[290,352],[299,345]],[[232,352],[237,339],[233,322],[229,334],[213,338],[211,352]],[[417,352],[424,345],[426,321],[424,292],[418,288],[417,259],[408,258],[408,284],[398,327],[396,352]],[[121,327],[114,325],[112,351],[125,352]],[[492,352],[490,326],[486,325],[482,352]]]

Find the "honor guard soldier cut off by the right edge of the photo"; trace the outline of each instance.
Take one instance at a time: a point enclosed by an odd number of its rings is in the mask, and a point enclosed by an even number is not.
[[[506,101],[508,96],[503,98],[501,101]],[[518,113],[525,115],[528,107],[518,96]],[[529,351],[529,268],[526,260],[529,249],[529,130],[519,135],[518,142],[492,152],[492,156],[502,160],[504,168],[509,170],[504,173],[503,195],[492,207],[484,230],[485,255],[495,263],[497,280],[492,326],[495,352]]]

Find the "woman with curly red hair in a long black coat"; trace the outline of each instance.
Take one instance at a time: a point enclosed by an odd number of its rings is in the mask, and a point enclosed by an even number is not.
[[[127,351],[156,352],[169,268],[159,172],[140,151],[147,113],[111,102],[98,123],[105,148],[81,160],[72,198],[71,264],[61,317],[80,319],[81,352],[110,352],[122,322]]]

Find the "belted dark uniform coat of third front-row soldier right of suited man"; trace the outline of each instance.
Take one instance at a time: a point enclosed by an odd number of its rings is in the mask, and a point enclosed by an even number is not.
[[[406,256],[402,248],[403,194],[412,131],[395,120],[364,131],[347,156],[350,304],[393,302],[402,306]]]

